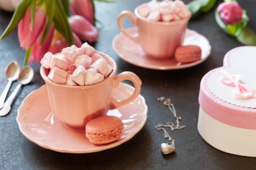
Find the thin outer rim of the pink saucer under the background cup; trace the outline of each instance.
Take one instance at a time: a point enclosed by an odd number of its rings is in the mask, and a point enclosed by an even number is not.
[[[126,30],[130,30],[130,29],[134,29],[136,27],[130,27],[130,28],[126,28]],[[206,41],[207,41],[207,44],[209,44],[210,46],[210,49],[209,49],[209,54],[207,54],[205,56],[205,58],[201,58],[201,60],[197,60],[195,62],[190,62],[190,63],[187,63],[187,64],[183,64],[182,67],[181,66],[159,66],[159,65],[146,65],[146,64],[141,64],[139,62],[134,62],[134,60],[131,60],[129,57],[125,57],[123,56],[123,54],[120,54],[120,52],[118,52],[117,48],[115,47],[115,42],[117,41],[117,38],[119,36],[121,36],[121,34],[123,34],[122,32],[119,32],[119,34],[117,34],[115,36],[115,38],[113,39],[112,41],[112,48],[113,50],[115,51],[115,53],[117,54],[117,56],[119,56],[119,58],[121,58],[122,60],[124,60],[125,62],[128,62],[130,63],[131,65],[135,65],[137,67],[142,67],[142,68],[145,68],[145,69],[152,69],[152,70],[163,70],[163,71],[168,71],[168,70],[181,70],[181,69],[187,69],[187,68],[190,68],[190,67],[194,67],[196,65],[199,65],[201,64],[202,62],[204,62],[207,58],[209,58],[210,54],[211,54],[211,50],[212,50],[212,46],[209,42],[209,40],[207,40],[207,38],[205,38],[205,36],[199,34],[198,32],[196,32],[195,30],[191,30],[189,28],[186,29],[186,31],[189,30],[191,32],[195,32],[196,34],[198,34],[199,36],[202,36]],[[165,60],[163,60],[165,61]]]

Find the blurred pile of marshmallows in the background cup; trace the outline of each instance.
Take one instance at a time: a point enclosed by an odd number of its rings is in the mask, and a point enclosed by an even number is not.
[[[173,22],[191,15],[189,8],[181,0],[162,2],[152,0],[140,5],[137,11],[141,17],[155,22]]]

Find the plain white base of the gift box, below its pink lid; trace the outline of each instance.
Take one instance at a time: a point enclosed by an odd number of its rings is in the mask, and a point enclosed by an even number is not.
[[[220,151],[256,157],[256,130],[237,128],[219,122],[199,108],[198,131],[201,137]]]

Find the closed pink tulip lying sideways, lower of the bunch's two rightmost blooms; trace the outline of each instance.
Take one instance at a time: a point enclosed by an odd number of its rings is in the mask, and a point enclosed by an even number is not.
[[[98,40],[98,30],[84,17],[79,15],[69,17],[69,25],[81,40],[86,42],[96,42]]]

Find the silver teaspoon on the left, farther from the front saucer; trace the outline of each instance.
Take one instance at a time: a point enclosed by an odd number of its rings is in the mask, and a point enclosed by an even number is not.
[[[3,103],[5,102],[7,93],[9,91],[9,88],[11,87],[11,83],[18,79],[19,74],[20,74],[20,65],[18,64],[18,62],[15,62],[15,61],[10,62],[5,69],[5,77],[7,78],[8,83],[5,86],[5,89],[3,90],[3,93],[0,96],[0,109],[3,108]]]

